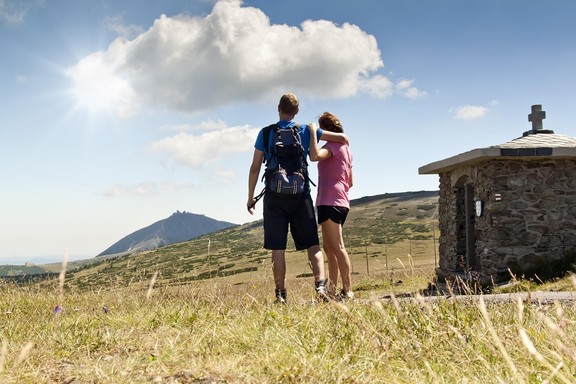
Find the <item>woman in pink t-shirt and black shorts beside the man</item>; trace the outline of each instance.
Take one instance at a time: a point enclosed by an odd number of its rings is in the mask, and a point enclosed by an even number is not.
[[[344,133],[340,120],[329,112],[318,118],[324,131]],[[308,125],[310,137],[316,137],[318,125]],[[322,246],[328,258],[328,293],[336,297],[338,273],[342,279],[342,291],[336,298],[352,299],[350,290],[352,265],[344,246],[342,226],[350,210],[348,190],[352,187],[352,153],[348,144],[326,143],[322,148],[318,141],[310,140],[310,159],[318,161],[318,195],[316,208],[318,223],[322,226]]]

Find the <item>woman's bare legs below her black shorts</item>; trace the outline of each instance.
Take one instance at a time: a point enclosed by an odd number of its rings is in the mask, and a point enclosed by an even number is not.
[[[322,238],[324,249],[328,247],[336,259],[336,264],[340,271],[340,278],[342,279],[342,289],[344,292],[350,291],[351,285],[351,272],[352,264],[350,257],[344,246],[344,239],[342,238],[342,226],[328,219],[322,223]],[[328,252],[326,252],[328,254]],[[332,268],[330,267],[330,257],[328,258],[328,268],[330,271],[330,279],[332,280]],[[338,271],[335,272],[336,275]]]

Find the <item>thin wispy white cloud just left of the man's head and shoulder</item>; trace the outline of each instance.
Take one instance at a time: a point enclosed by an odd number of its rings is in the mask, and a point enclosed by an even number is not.
[[[200,135],[181,132],[152,143],[150,148],[169,163],[201,168],[222,156],[250,151],[258,131],[259,128],[240,126]]]

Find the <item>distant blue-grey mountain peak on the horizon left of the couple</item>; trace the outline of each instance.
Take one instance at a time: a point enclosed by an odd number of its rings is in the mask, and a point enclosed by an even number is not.
[[[167,219],[157,221],[146,228],[129,234],[98,256],[156,249],[163,245],[191,240],[235,225],[226,221],[214,220],[204,215],[177,211]]]

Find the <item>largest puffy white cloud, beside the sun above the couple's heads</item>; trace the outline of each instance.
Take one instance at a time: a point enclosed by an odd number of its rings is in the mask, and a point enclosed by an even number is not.
[[[376,39],[355,25],[271,25],[261,10],[228,0],[217,2],[206,17],[162,15],[146,32],[133,40],[118,38],[69,73],[78,89],[92,81],[91,71],[105,74],[122,91],[120,111],[129,114],[141,102],[197,112],[285,90],[385,97],[393,86],[376,74],[381,67]]]

